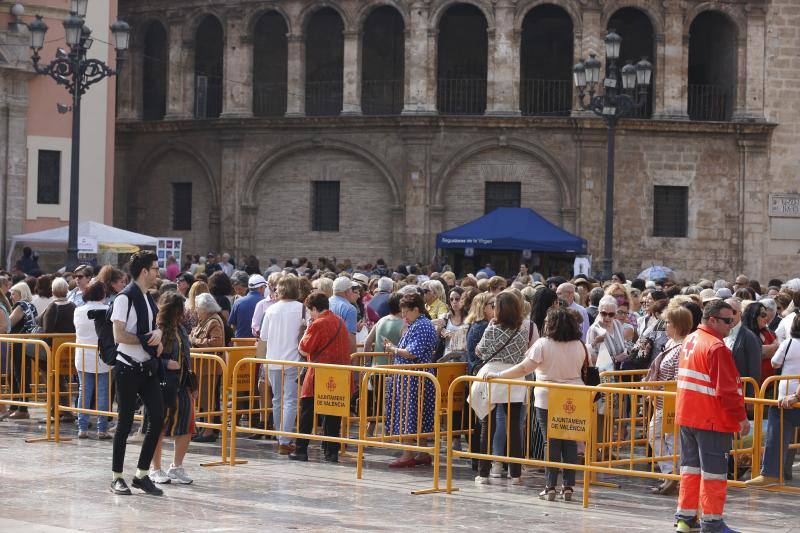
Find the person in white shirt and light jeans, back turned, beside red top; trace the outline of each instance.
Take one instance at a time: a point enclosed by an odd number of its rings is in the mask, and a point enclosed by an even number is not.
[[[297,301],[300,297],[297,276],[283,276],[275,292],[278,301],[264,313],[256,354],[273,361],[300,361],[298,346],[305,313],[303,304]],[[272,419],[283,432],[297,432],[297,376],[296,366],[269,365],[267,370],[272,388]],[[292,439],[279,436],[278,453],[289,455],[293,451]]]

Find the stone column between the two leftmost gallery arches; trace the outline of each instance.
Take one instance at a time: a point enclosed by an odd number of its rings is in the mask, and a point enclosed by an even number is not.
[[[165,120],[190,119],[194,116],[194,42],[183,40],[184,20],[178,16],[169,19]]]

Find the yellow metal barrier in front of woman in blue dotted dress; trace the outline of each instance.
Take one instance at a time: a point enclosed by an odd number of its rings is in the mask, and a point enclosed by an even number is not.
[[[267,370],[268,373],[279,372],[279,374],[273,374],[272,379],[275,381],[280,380],[281,383],[281,390],[276,392],[278,394],[276,404],[280,405],[281,410],[286,407],[286,402],[283,401],[283,392],[286,388],[297,387],[297,397],[298,399],[301,397],[302,376],[300,371],[302,369],[314,372],[313,397],[306,398],[305,402],[301,401],[293,416],[283,418],[281,416],[282,412],[279,413],[274,419],[275,429],[240,426],[238,422],[239,415],[246,413],[253,416],[257,411],[260,411],[259,414],[262,419],[266,419],[267,407],[262,406],[261,409],[255,409],[251,399],[247,409],[241,410],[234,402],[230,417],[230,463],[232,465],[236,461],[236,436],[240,432],[357,446],[356,476],[358,479],[361,479],[363,473],[364,448],[389,448],[432,455],[431,462],[434,469],[433,488],[414,491],[414,494],[424,494],[439,490],[440,458],[438,443],[441,436],[440,420],[438,416],[432,417],[433,423],[430,430],[425,428],[422,422],[426,400],[433,403],[434,413],[438,413],[441,410],[441,390],[438,381],[432,374],[416,370],[397,370],[384,367],[358,367],[246,358],[240,360],[234,366],[232,372],[233,381],[238,382],[241,376],[256,374],[256,368],[259,365],[267,365],[269,368]],[[364,394],[360,395],[359,398],[357,437],[353,437],[349,433],[334,436],[318,432],[316,428],[318,416],[340,418],[348,416],[354,385],[351,380],[359,374],[362,376],[360,382],[361,390],[366,390],[367,383],[373,376],[383,376],[384,380],[390,380],[387,382],[387,389],[390,392],[387,392],[384,397],[386,418],[385,423],[382,424],[380,435],[373,437],[367,437],[366,435],[367,397]],[[310,429],[307,431],[303,431],[305,427],[301,427],[301,412],[304,409],[302,403],[305,403],[306,410],[311,409],[310,412],[306,411],[306,417],[303,422],[304,425],[310,425]],[[291,401],[289,402],[289,407],[291,408]],[[334,426],[340,423],[336,420],[332,422]],[[331,429],[331,426],[329,425],[328,428]],[[424,441],[431,438],[433,439],[432,444],[425,445]],[[409,440],[416,441],[416,443],[407,444],[406,442]]]

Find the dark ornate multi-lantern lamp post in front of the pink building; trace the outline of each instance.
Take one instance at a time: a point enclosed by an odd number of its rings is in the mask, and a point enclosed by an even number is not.
[[[63,85],[72,96],[72,159],[69,187],[69,240],[67,242],[67,270],[78,265],[78,191],[80,185],[80,145],[81,145],[81,97],[90,86],[99,81],[116,76],[122,70],[124,53],[130,41],[130,26],[117,20],[111,25],[114,48],[117,51],[116,68],[109,67],[99,59],[87,58],[91,48],[92,30],[86,26],[85,18],[89,0],[70,0],[70,13],[63,21],[64,40],[69,52],[59,48],[56,58],[48,65],[39,64],[39,51],[44,47],[47,24],[41,15],[28,24],[31,35],[31,60],[38,74],[50,76]]]

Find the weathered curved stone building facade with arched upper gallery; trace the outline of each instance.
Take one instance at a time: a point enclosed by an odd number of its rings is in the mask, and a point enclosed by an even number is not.
[[[797,274],[794,0],[121,0],[120,12],[134,35],[115,221],[173,228],[186,253],[427,261],[438,232],[520,205],[587,239],[599,264],[606,128],[579,111],[571,69],[604,60],[615,29],[623,61],[654,66],[651,98],[617,132],[615,269]]]

